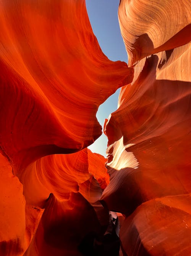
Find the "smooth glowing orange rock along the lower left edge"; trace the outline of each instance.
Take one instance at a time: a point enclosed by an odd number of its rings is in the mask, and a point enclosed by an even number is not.
[[[43,210],[26,205],[23,185],[0,154],[0,254],[23,255],[39,225]]]

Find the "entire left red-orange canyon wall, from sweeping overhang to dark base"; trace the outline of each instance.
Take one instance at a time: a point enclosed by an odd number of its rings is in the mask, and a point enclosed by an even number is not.
[[[0,24],[0,255],[92,255],[109,175],[86,147],[133,69],[102,53],[85,1],[2,0]]]

